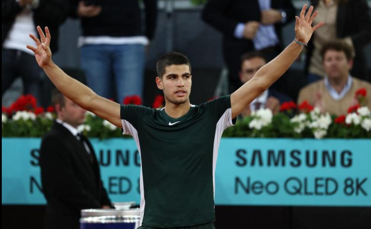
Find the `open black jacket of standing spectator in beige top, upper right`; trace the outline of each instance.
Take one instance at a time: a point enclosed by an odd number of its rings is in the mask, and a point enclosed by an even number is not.
[[[319,0],[312,0],[316,7]],[[336,16],[336,37],[345,38],[350,36],[355,48],[354,65],[351,75],[359,79],[368,79],[368,70],[364,47],[371,41],[371,18],[370,9],[365,0],[339,0],[338,14]],[[313,36],[312,36],[313,37]],[[313,39],[308,42],[308,57],[306,58],[306,73],[312,57],[314,45]]]

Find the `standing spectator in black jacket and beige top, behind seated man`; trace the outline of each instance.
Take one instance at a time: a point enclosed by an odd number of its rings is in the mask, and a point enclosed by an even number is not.
[[[313,24],[324,21],[321,29],[313,33],[308,43],[306,73],[308,83],[325,77],[322,68],[322,46],[335,39],[342,40],[355,50],[351,74],[359,79],[368,79],[364,47],[371,41],[371,19],[366,0],[312,0],[320,12]],[[353,56],[354,57],[354,56]]]

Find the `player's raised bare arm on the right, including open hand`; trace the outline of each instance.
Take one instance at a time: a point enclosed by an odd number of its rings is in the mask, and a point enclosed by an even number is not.
[[[311,6],[305,15],[306,8],[305,4],[300,17],[295,16],[295,40],[304,44],[307,44],[312,33],[324,24],[324,22],[320,22],[312,27],[318,11],[315,11],[311,16],[313,11],[313,6]],[[232,118],[241,114],[257,96],[282,76],[299,56],[302,49],[303,47],[295,41],[291,42],[275,59],[260,68],[250,81],[233,92],[231,95]]]

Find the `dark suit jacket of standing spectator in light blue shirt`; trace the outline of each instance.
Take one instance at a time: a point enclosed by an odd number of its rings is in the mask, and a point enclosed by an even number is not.
[[[291,0],[271,0],[271,8],[286,12],[286,23],[295,19],[295,8]],[[229,68],[230,84],[237,89],[240,85],[239,69],[240,58],[246,52],[255,50],[252,40],[237,39],[234,30],[238,23],[249,21],[260,22],[261,12],[258,0],[209,0],[203,10],[202,19],[215,29],[223,33],[224,61]],[[282,49],[281,29],[282,23],[276,23],[275,32]]]

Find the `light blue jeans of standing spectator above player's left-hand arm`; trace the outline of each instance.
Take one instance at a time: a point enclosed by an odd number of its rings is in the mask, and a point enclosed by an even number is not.
[[[143,98],[144,64],[144,45],[81,47],[81,67],[88,86],[96,94],[119,103],[130,95]]]

